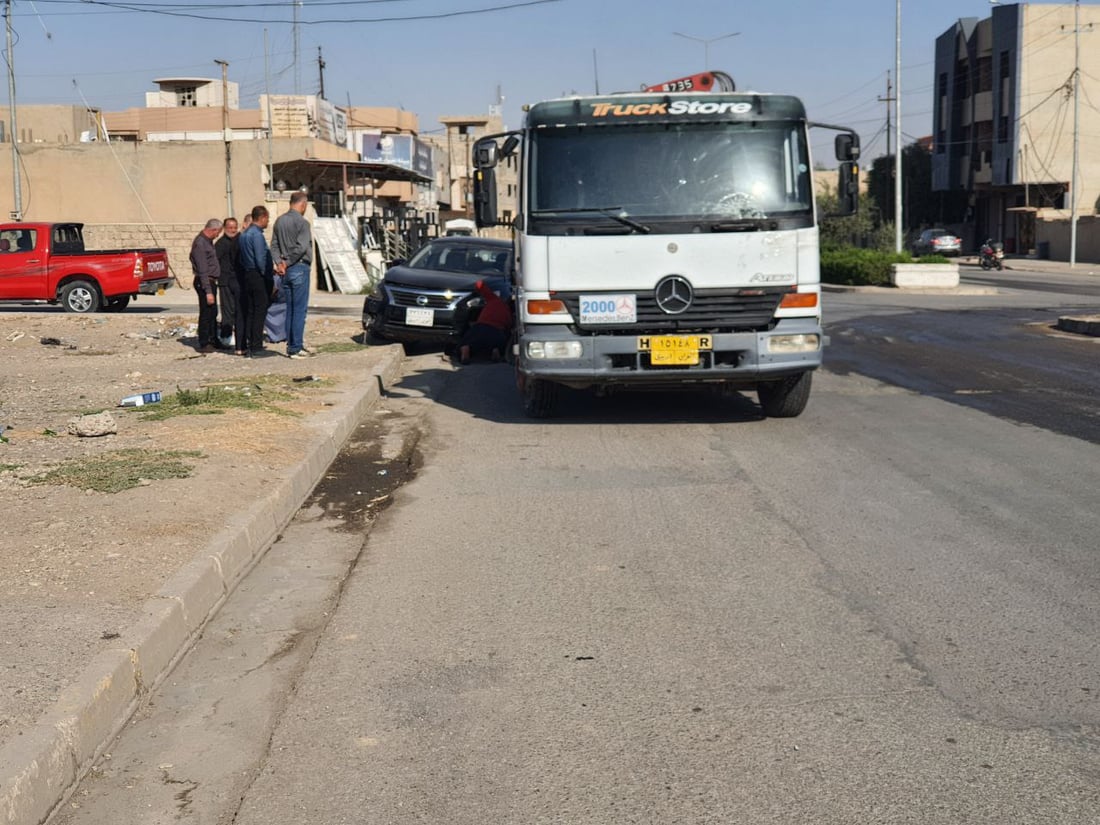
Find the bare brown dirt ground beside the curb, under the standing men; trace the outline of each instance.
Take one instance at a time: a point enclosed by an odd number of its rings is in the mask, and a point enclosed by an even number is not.
[[[0,746],[32,726],[265,481],[301,458],[310,414],[382,358],[358,345],[358,318],[310,317],[306,344],[319,354],[302,361],[274,351],[200,355],[194,320],[0,314]],[[224,386],[270,406],[150,417],[188,393],[209,397]],[[163,405],[118,407],[153,391]],[[99,410],[110,411],[116,435],[68,432],[74,418]],[[152,477],[120,492],[50,482],[51,471],[78,476],[119,450],[157,468],[179,464],[189,476],[158,479],[146,469]]]

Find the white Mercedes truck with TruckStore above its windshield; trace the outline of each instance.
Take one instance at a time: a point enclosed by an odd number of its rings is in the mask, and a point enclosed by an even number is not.
[[[858,207],[859,139],[800,100],[637,92],[531,106],[474,147],[479,227],[497,226],[495,167],[520,152],[517,385],[527,415],[558,388],[713,385],[800,415],[822,363],[809,129],[835,140],[839,215]]]

